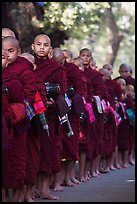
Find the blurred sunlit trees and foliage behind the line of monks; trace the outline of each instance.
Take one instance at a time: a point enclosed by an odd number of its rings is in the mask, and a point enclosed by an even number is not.
[[[134,8],[135,2],[2,2],[2,26],[14,27],[24,51],[42,32],[53,47],[67,47],[75,55],[88,46],[99,66],[134,67]]]

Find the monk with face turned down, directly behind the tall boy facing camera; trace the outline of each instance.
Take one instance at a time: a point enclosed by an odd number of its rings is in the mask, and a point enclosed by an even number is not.
[[[62,64],[66,68],[67,72],[67,86],[72,86],[74,91],[81,97],[82,96],[82,82],[81,82],[81,73],[79,68],[73,64],[69,63],[65,60],[65,56],[63,51],[60,48],[54,48],[53,50],[53,59],[59,64]],[[69,96],[69,95],[68,95]],[[74,96],[74,97],[75,97]],[[80,127],[80,103],[75,101],[76,104],[74,105],[74,97],[72,97],[72,108],[69,112],[69,120],[74,132],[74,136],[68,138],[64,135],[63,137],[63,151],[62,151],[62,161],[63,166],[66,168],[64,184],[66,186],[74,186],[75,184],[79,184],[79,181],[76,179],[75,175],[75,162],[79,159],[78,156],[78,144],[79,144],[79,127]],[[75,98],[76,99],[76,98]],[[77,109],[75,109],[77,106]],[[78,113],[79,112],[79,113]],[[84,112],[84,110],[83,110]],[[63,167],[64,168],[64,167]]]

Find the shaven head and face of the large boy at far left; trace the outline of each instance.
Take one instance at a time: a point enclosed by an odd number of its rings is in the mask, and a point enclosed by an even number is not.
[[[18,48],[15,43],[11,41],[4,41],[2,43],[2,49],[7,52],[8,64],[15,62],[18,55],[20,54],[20,48]]]

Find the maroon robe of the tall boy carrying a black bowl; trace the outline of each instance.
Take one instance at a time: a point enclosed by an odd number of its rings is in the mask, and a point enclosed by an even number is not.
[[[37,65],[34,70],[35,74],[43,82],[59,84],[61,94],[64,95],[67,88],[66,70],[51,59],[39,59],[35,56]],[[40,172],[52,173],[60,171],[61,168],[61,151],[62,151],[62,133],[59,124],[58,115],[55,114],[56,103],[54,108],[48,108],[46,117],[49,123],[50,135],[45,132],[41,138],[41,160]],[[52,117],[51,117],[52,115]]]

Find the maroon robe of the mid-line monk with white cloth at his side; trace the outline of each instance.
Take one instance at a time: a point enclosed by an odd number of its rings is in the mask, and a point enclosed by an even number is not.
[[[93,96],[99,96],[101,99],[108,98],[108,92],[102,78],[101,73],[92,69],[90,66],[84,70],[87,77],[88,96],[87,101],[91,102]],[[97,156],[101,154],[103,134],[104,134],[104,120],[102,114],[98,113],[93,104],[95,122],[92,124],[91,137],[93,139],[93,154]]]

